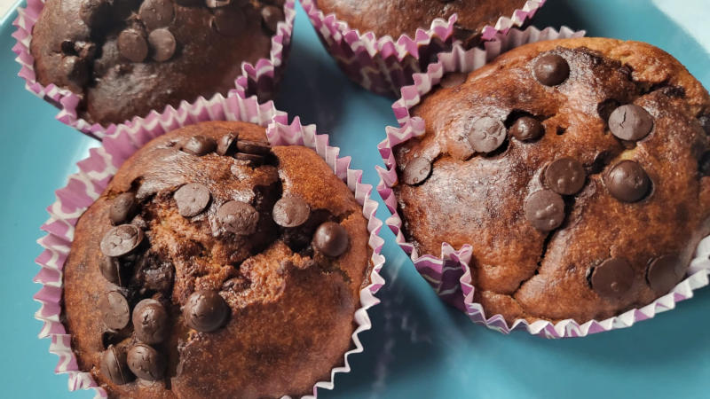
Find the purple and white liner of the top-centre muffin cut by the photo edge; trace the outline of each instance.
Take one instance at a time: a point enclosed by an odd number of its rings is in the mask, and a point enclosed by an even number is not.
[[[510,18],[501,17],[494,27],[485,26],[481,39],[487,41],[511,27],[522,26],[545,1],[528,0],[523,4],[521,0],[523,7]],[[433,20],[429,29],[417,29],[414,38],[400,35],[395,40],[390,35],[377,37],[372,31],[360,33],[335,14],[325,15],[316,2],[301,0],[326,50],[353,82],[375,93],[398,97],[401,87],[412,84],[412,74],[422,72],[439,51],[451,49],[456,14],[448,20]]]

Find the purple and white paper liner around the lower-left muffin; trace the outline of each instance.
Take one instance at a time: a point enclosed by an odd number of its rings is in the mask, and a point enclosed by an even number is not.
[[[329,146],[327,135],[317,134],[314,125],[303,126],[297,117],[289,125],[287,114],[277,111],[272,102],[260,105],[256,97],[245,98],[236,90],[227,98],[220,95],[209,100],[201,98],[192,105],[180,106],[177,110],[170,108],[161,114],[151,113],[134,121],[130,126],[118,127],[112,136],[104,139],[102,146],[92,148],[89,157],[78,162],[79,172],[69,176],[67,185],[56,192],[57,200],[47,208],[50,218],[42,226],[47,235],[37,241],[43,246],[42,254],[36,258],[41,269],[34,278],[42,287],[34,299],[41,305],[35,314],[43,322],[39,338],[50,338],[50,352],[59,356],[54,372],[68,374],[71,391],[94,389],[97,397],[107,396],[89,372],[79,370],[71,348],[71,336],[61,323],[62,269],[79,217],[99,198],[123,161],[152,138],[200,121],[249,121],[267,127],[266,136],[272,145],[304,145],[315,150],[348,185],[367,218],[372,271],[370,284],[360,291],[361,307],[353,317],[357,327],[352,333],[351,349],[344,354],[344,365],[332,369],[329,380],[316,383],[309,397],[315,397],[318,388],[332,389],[336,373],[351,371],[349,356],[363,351],[358,335],[372,327],[367,309],[379,303],[375,293],[384,285],[380,275],[384,264],[381,254],[384,241],[378,236],[383,223],[375,217],[377,202],[370,198],[372,186],[361,183],[362,171],[351,169],[350,157],[339,157],[339,149]]]

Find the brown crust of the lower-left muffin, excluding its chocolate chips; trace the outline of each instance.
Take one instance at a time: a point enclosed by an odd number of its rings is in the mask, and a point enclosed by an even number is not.
[[[330,370],[342,364],[350,348],[352,317],[359,308],[370,254],[359,204],[326,162],[304,147],[273,147],[273,160],[257,168],[216,153],[196,157],[178,150],[179,143],[194,135],[218,139],[228,132],[265,141],[263,128],[244,122],[205,122],[158,137],[123,164],[76,225],[64,268],[65,325],[80,368],[91,372],[112,396],[304,395],[317,380],[329,379]],[[172,199],[172,192],[186,183],[204,184],[212,196],[207,210],[192,218],[178,215]],[[105,343],[126,346],[135,337],[128,327],[116,334],[118,338],[106,335],[102,342],[106,327],[99,295],[116,286],[99,272],[99,241],[111,227],[111,200],[130,190],[143,201],[139,216],[148,225],[150,247],[143,255],[150,259],[147,267],[157,270],[168,262],[175,284],[166,293],[146,289],[137,272],[124,291],[131,306],[146,295],[167,300],[171,333],[156,347],[169,356],[167,378],[119,386],[99,370],[100,354]],[[284,195],[300,196],[311,206],[312,218],[306,224],[313,218],[340,223],[350,238],[345,254],[327,258],[310,246],[292,248],[272,222],[273,202]],[[245,238],[214,235],[217,207],[235,199],[250,202],[260,212],[258,230]],[[312,227],[296,231],[312,233],[308,229]],[[225,286],[230,278],[237,284]],[[185,327],[180,306],[197,289],[219,291],[230,306],[229,321],[216,332]]]

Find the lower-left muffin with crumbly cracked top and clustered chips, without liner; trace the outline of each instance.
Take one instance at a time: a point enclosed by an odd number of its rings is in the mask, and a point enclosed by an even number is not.
[[[319,155],[205,122],[127,160],[76,225],[63,317],[112,397],[312,394],[351,348],[367,223]]]

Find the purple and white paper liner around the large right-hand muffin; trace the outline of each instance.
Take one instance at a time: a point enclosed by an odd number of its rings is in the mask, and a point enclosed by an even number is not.
[[[486,325],[499,332],[509,333],[513,330],[527,330],[527,332],[545,338],[564,338],[583,337],[591,333],[625,328],[634,325],[635,322],[654,317],[657,313],[674,309],[676,302],[691,298],[693,290],[708,285],[710,237],[703,239],[698,244],[696,258],[690,263],[686,278],[675,286],[670,293],[643,308],[632,309],[619,316],[602,321],[591,320],[582,325],[572,319],[563,320],[556,324],[548,321],[528,323],[525,319],[517,319],[512,325],[508,325],[501,315],[486,316],[481,304],[473,300],[473,293],[476,288],[471,285],[469,269],[472,255],[471,246],[467,244],[456,250],[445,242],[441,245],[441,254],[439,256],[434,254],[420,255],[417,254],[414,245],[406,242],[402,233],[402,219],[398,213],[397,199],[392,191],[392,187],[397,184],[398,178],[397,164],[392,148],[412,137],[424,134],[424,121],[422,118],[411,116],[409,109],[419,104],[421,98],[436,86],[442,76],[448,72],[470,72],[476,70],[493,60],[503,51],[525,43],[580,37],[583,35],[583,31],[573,32],[567,27],[562,27],[559,32],[551,27],[543,30],[529,27],[525,31],[511,29],[507,35],[499,35],[494,41],[485,43],[485,50],[476,48],[465,51],[461,46],[454,45],[452,51],[440,53],[438,62],[431,64],[426,73],[414,74],[413,85],[402,88],[402,97],[392,105],[399,127],[388,127],[387,138],[377,146],[386,167],[375,167],[380,175],[377,191],[392,213],[385,223],[397,236],[398,245],[406,254],[410,254],[416,270],[429,282],[441,299],[461,309],[471,321]]]

